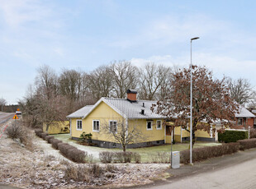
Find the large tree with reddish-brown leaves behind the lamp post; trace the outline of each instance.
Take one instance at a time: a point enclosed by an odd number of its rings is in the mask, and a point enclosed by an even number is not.
[[[159,100],[155,107],[157,113],[173,119],[175,127],[189,131],[190,69],[175,72],[166,90],[165,99]],[[195,143],[195,132],[210,132],[211,123],[232,125],[238,108],[225,79],[213,79],[212,72],[206,67],[192,66],[192,144]]]

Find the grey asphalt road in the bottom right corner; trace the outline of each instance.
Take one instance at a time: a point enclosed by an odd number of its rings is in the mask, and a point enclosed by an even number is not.
[[[256,188],[256,149],[169,169],[168,173],[172,177],[166,181],[133,188]]]

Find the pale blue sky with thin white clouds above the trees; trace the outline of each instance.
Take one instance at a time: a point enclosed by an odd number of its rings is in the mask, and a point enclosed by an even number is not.
[[[0,0],[0,98],[17,104],[38,67],[92,71],[192,63],[256,86],[256,2]]]

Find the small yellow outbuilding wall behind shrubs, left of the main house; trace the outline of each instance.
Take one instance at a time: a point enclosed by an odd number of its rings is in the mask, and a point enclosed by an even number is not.
[[[46,132],[46,124],[43,123],[43,131]],[[54,122],[48,129],[48,134],[69,133],[69,121]]]

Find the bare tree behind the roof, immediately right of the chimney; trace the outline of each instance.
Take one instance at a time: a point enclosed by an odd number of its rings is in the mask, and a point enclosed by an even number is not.
[[[140,99],[163,98],[170,76],[170,67],[157,66],[152,62],[145,64],[145,67],[140,68]]]

